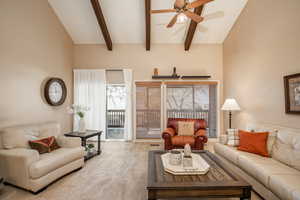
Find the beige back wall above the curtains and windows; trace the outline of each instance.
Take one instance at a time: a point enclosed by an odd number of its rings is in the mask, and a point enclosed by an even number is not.
[[[75,45],[75,68],[131,68],[135,80],[151,80],[153,69],[159,74],[171,74],[173,67],[180,75],[211,75],[220,80],[222,101],[223,46],[192,45],[189,52],[183,45],[152,44],[151,51],[140,45],[114,45],[107,51],[104,45]],[[221,119],[222,124],[222,119]]]

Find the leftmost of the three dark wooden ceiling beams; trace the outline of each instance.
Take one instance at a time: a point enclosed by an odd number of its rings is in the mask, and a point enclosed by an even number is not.
[[[105,40],[105,43],[106,43],[106,47],[107,47],[107,49],[109,51],[112,51],[111,37],[110,37],[110,34],[108,32],[108,29],[107,29],[107,25],[106,25],[106,22],[105,22],[105,18],[104,18],[104,15],[103,15],[103,12],[102,12],[99,0],[91,0],[91,4],[93,6],[93,9],[94,9],[94,12],[95,12],[98,24],[100,26],[102,35],[104,37],[104,40]]]

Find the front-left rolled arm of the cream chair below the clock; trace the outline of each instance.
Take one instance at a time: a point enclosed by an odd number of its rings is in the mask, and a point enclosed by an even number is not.
[[[39,160],[39,153],[32,149],[0,150],[0,173],[15,185],[27,185],[29,166]]]

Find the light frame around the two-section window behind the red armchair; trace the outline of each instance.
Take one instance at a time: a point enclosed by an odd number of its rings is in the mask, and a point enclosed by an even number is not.
[[[133,113],[133,142],[161,142],[162,138],[160,139],[137,139],[136,138],[136,82],[161,82],[161,128],[164,130],[166,128],[166,84],[164,82],[168,82],[170,80],[134,80],[133,85],[133,106],[132,106],[132,113]],[[190,80],[171,80],[172,82],[191,82]],[[217,83],[217,137],[216,138],[209,138],[210,141],[218,140],[221,134],[221,81],[220,80],[193,80],[193,82],[216,82]],[[223,98],[223,97],[222,97]]]

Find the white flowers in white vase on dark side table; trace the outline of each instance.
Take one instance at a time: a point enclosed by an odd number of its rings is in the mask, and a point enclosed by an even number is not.
[[[80,133],[86,132],[84,117],[86,112],[88,112],[89,110],[90,108],[88,106],[83,106],[83,105],[73,104],[69,107],[69,113],[79,117],[78,132]]]

